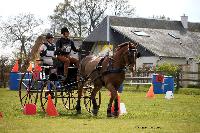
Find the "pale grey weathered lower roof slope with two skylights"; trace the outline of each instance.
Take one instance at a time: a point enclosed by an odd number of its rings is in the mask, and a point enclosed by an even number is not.
[[[139,42],[140,45],[158,56],[195,57],[200,54],[200,33],[180,34],[177,30],[111,26],[124,36]],[[138,36],[134,31],[142,31],[148,36]],[[174,38],[171,35],[177,37]],[[180,39],[178,39],[180,38]]]

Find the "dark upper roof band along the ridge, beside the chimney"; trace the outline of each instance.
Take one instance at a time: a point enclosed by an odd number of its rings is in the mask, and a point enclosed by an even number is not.
[[[110,16],[109,18],[110,18],[110,25],[112,26],[179,30],[181,32],[185,31],[185,29],[181,24],[181,21],[149,19],[149,18],[128,18],[128,17],[117,17],[117,16]],[[200,23],[188,22],[188,31],[200,32]]]

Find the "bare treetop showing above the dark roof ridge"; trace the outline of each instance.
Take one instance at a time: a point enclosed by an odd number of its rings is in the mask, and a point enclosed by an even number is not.
[[[133,17],[135,8],[129,4],[129,0],[111,0],[111,11],[115,16]]]

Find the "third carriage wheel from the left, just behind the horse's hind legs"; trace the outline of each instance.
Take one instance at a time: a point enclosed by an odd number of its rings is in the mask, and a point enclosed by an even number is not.
[[[68,110],[74,110],[76,107],[76,101],[78,99],[77,89],[65,89],[63,92],[61,92],[61,96],[64,107]]]

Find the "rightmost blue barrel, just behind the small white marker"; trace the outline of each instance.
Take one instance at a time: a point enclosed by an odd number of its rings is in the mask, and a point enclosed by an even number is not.
[[[174,78],[172,76],[164,77],[164,93],[167,91],[174,92]]]

